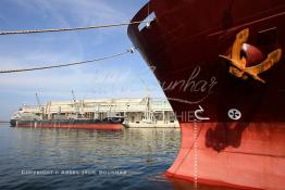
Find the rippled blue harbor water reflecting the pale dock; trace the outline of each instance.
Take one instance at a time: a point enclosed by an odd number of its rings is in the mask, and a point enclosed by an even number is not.
[[[0,124],[0,189],[194,189],[190,182],[162,175],[178,149],[178,129],[99,131]]]

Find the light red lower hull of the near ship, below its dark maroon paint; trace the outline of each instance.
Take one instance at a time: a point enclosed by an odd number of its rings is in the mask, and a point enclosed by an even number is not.
[[[166,172],[169,177],[195,180],[194,124],[181,124],[182,144],[175,163]],[[285,126],[251,123],[241,139],[230,135],[238,148],[210,151],[206,139],[213,124],[198,123],[198,182],[238,189],[283,189],[285,168]],[[219,138],[214,139],[219,140]]]

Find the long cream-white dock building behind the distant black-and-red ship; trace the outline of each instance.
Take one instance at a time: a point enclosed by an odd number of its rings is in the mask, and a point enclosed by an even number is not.
[[[46,104],[24,105],[22,112],[36,114],[42,119],[63,117],[104,118],[124,116],[126,127],[179,127],[165,99],[87,99],[49,101]]]

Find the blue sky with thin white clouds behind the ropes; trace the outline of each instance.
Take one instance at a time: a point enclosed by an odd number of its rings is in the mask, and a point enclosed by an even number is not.
[[[0,30],[126,23],[147,0],[1,0]],[[0,36],[0,69],[91,60],[132,47],[126,27]],[[163,93],[138,52],[94,64],[0,74],[0,121],[23,103],[77,99],[139,98]]]

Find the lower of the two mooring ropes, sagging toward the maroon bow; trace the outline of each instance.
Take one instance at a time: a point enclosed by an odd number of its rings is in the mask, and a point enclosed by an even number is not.
[[[121,52],[121,53],[115,53],[115,54],[112,54],[112,55],[109,55],[109,56],[103,56],[103,58],[94,59],[94,60],[87,60],[87,61],[74,62],[74,63],[67,63],[67,64],[54,64],[54,65],[49,65],[49,66],[30,67],[30,68],[7,69],[7,71],[0,71],[0,74],[32,72],[32,71],[39,71],[39,69],[50,69],[50,68],[60,68],[60,67],[67,67],[67,66],[74,66],[74,65],[82,65],[82,64],[109,60],[109,59],[113,59],[113,58],[116,58],[116,56],[122,56],[122,55],[127,54],[127,53],[133,53],[134,51],[135,51],[135,48],[131,48],[131,49],[128,49],[124,52]]]

